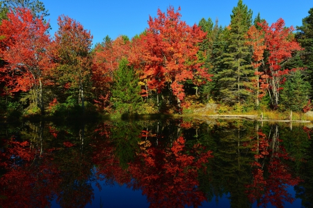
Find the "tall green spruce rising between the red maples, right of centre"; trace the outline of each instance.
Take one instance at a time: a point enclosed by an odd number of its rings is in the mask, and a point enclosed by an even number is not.
[[[239,0],[232,10],[227,49],[223,54],[223,67],[216,76],[220,86],[220,100],[227,104],[245,103],[250,97],[246,88],[254,70],[250,61],[250,49],[246,45],[246,33],[252,24],[252,11]]]

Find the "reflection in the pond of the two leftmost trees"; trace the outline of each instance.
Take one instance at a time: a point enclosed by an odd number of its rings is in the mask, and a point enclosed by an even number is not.
[[[26,123],[0,155],[6,173],[0,179],[3,207],[84,207],[91,201],[90,151],[83,150],[83,128]],[[51,130],[53,129],[53,130]],[[70,143],[71,145],[69,145]],[[69,147],[70,146],[70,147]],[[14,155],[15,161],[11,158]],[[16,159],[19,163],[16,163]]]

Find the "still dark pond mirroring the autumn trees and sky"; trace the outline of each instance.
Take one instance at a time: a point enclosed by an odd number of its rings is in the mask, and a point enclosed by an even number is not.
[[[0,126],[0,207],[313,207],[312,129],[248,120]]]

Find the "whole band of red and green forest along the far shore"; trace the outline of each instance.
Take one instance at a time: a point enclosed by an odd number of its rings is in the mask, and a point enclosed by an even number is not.
[[[228,26],[211,18],[189,26],[180,10],[157,10],[133,38],[93,45],[66,15],[49,34],[41,1],[1,1],[0,117],[188,113],[207,104],[221,113],[310,111],[313,8],[296,28],[252,19],[242,0]]]

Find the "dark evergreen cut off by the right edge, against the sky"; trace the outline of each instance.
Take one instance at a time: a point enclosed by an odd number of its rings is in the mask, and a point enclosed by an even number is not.
[[[305,50],[301,52],[301,60],[305,70],[305,81],[309,81],[313,86],[313,8],[309,10],[309,15],[302,20],[302,26],[297,26],[296,40]]]

